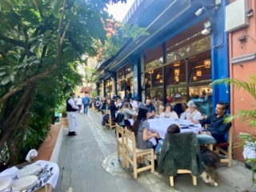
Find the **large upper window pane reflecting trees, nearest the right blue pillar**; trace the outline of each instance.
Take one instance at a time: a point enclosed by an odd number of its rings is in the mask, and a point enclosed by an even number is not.
[[[201,33],[200,33],[201,34]],[[200,38],[198,40],[198,38]],[[194,39],[195,42],[191,43]],[[186,45],[188,44],[188,45]],[[184,46],[186,45],[186,46]],[[191,55],[200,53],[204,50],[210,50],[210,36],[202,38],[201,35],[196,34],[195,36],[186,39],[186,41],[179,42],[175,46],[170,46],[166,48],[166,62],[175,62],[181,60],[182,58],[188,58]],[[181,48],[179,48],[181,47]]]

